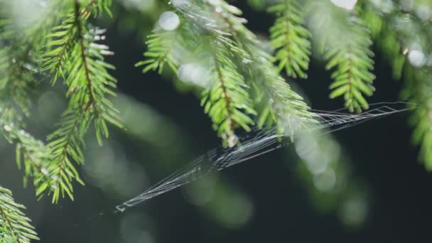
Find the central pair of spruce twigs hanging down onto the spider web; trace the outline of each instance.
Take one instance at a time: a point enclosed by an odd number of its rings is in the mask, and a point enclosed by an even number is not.
[[[256,109],[260,111],[260,127],[276,121],[281,133],[293,134],[299,126],[314,121],[302,98],[279,76],[271,56],[262,48],[263,43],[244,26],[239,9],[225,1],[202,1],[194,7],[197,6],[205,13],[183,15],[185,9],[193,7],[179,6],[182,20],[179,28],[166,32],[156,30],[149,36],[148,51],[144,54],[148,59],[137,64],[145,65],[144,72],[156,69],[162,72],[164,63],[177,70],[183,63],[175,58],[173,48],[180,49],[183,58],[188,54],[197,57],[193,62],[200,63],[209,72],[208,77],[202,77],[202,82],[208,78],[212,83],[202,92],[201,103],[212,118],[217,134],[225,139],[225,145],[237,125],[249,131]],[[202,14],[211,17],[203,19]],[[207,35],[202,37],[202,33]],[[200,48],[195,48],[197,43]]]

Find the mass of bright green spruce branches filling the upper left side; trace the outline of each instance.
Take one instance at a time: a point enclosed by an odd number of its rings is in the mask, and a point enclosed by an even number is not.
[[[47,18],[25,27],[15,25],[11,11],[1,14],[0,131],[16,145],[24,182],[32,177],[36,195],[53,193],[53,202],[60,195],[73,198],[72,180],[82,183],[73,163],[84,161],[84,135],[90,124],[95,124],[99,144],[108,136],[107,123],[121,127],[117,110],[105,97],[115,95],[116,80],[108,72],[114,67],[103,58],[112,53],[98,43],[104,31],[87,23],[90,16],[110,13],[110,4],[102,0],[50,1]],[[9,4],[4,6],[4,10],[11,9]],[[59,129],[48,136],[48,146],[21,129],[24,117],[30,115],[29,92],[37,85],[38,72],[53,75],[53,85],[61,78],[70,99]]]

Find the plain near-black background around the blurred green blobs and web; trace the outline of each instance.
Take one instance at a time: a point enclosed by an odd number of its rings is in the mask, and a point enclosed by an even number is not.
[[[240,1],[234,4],[244,10],[249,28],[266,34],[272,16],[252,11]],[[144,190],[187,162],[179,158],[198,156],[220,141],[195,95],[178,92],[169,78],[154,72],[143,75],[139,68],[134,68],[134,63],[142,59],[145,45],[139,41],[141,33],[119,33],[119,19],[121,15],[114,23],[104,23],[108,27],[107,44],[116,53],[109,63],[117,67],[113,74],[119,80],[119,91],[148,104],[181,130],[184,136],[168,141],[168,148],[180,145],[188,148],[188,155],[172,156],[173,166],[158,171],[155,164],[159,163],[160,154],[155,154],[168,151],[156,152],[150,142],[139,144],[142,142],[139,139],[114,132],[117,135],[112,139],[121,144],[125,156],[148,168],[148,183],[131,184]],[[151,26],[149,21],[146,28]],[[379,52],[375,61],[377,92],[369,101],[399,100],[401,82],[391,79],[389,65]],[[308,75],[308,80],[296,82],[309,97],[311,107],[323,110],[342,107],[340,99],[328,99],[330,74],[322,63],[312,60]],[[22,172],[13,161],[0,160],[0,177],[2,185],[13,190],[16,201],[28,207],[26,212],[34,220],[41,242],[428,242],[432,175],[416,159],[418,151],[410,144],[407,118],[408,113],[395,114],[333,134],[349,154],[354,176],[367,183],[370,205],[367,219],[360,227],[347,227],[335,212],[323,213],[313,207],[311,198],[296,179],[293,166],[296,158],[287,156],[284,149],[222,171],[223,180],[242,190],[253,203],[248,222],[235,228],[211,220],[200,207],[185,200],[182,190],[114,215],[115,205],[127,197],[107,193],[88,180],[85,187],[75,185],[75,202],[65,198],[58,205],[51,205],[48,198],[37,201],[31,186],[22,188]],[[154,129],[158,134],[158,127]],[[7,151],[11,148],[4,148],[2,153],[9,154]],[[120,183],[126,186],[133,183],[127,180],[128,175],[124,178]],[[103,215],[92,217],[99,212]],[[136,232],[140,236],[134,237]]]

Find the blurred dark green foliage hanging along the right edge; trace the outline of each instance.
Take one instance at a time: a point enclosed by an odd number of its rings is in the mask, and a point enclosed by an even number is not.
[[[403,13],[399,9],[387,9],[382,12],[379,6],[364,4],[362,18],[373,30],[375,43],[392,68],[396,80],[404,80],[401,98],[411,102],[412,114],[409,124],[414,127],[412,141],[420,146],[419,160],[423,161],[428,171],[432,170],[432,120],[431,120],[431,67],[412,65],[409,55],[412,50],[431,53],[430,24],[421,21],[416,14]]]

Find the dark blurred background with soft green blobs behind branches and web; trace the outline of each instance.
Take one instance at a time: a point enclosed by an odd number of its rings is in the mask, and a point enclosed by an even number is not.
[[[274,17],[262,11],[262,1],[230,2],[244,11],[250,29],[267,35]],[[416,160],[407,114],[301,137],[114,215],[115,205],[220,144],[190,87],[172,82],[172,74],[134,68],[144,37],[166,9],[165,1],[115,1],[114,18],[98,22],[115,53],[107,61],[117,67],[121,95],[114,104],[127,130],[113,131],[102,147],[88,136],[81,167],[86,186],[75,185],[75,202],[37,201],[31,186],[22,188],[13,149],[0,140],[1,183],[26,205],[41,242],[427,241],[432,175]],[[379,52],[375,61],[377,92],[370,102],[398,100],[401,83],[391,79]],[[342,107],[328,99],[330,75],[319,60],[312,60],[308,76],[294,86],[313,109]],[[28,126],[41,139],[66,106],[61,85],[42,86]]]

